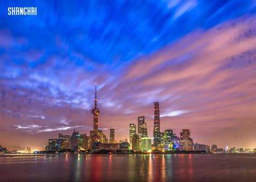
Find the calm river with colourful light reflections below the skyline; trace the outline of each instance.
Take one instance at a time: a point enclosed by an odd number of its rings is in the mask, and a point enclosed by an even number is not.
[[[0,181],[256,181],[256,155],[0,157]]]

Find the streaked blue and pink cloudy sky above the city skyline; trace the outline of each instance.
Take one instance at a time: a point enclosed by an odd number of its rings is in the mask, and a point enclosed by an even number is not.
[[[37,16],[8,16],[36,6]],[[256,148],[256,1],[1,1],[0,145],[42,149],[58,133],[129,138],[153,102],[161,131]]]

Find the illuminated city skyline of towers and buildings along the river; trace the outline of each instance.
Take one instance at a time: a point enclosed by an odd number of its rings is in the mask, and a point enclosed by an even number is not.
[[[199,144],[197,142],[193,142],[193,138],[191,138],[191,131],[189,129],[182,129],[180,132],[180,136],[178,136],[178,140],[176,141],[175,138],[177,135],[173,132],[172,129],[165,129],[161,132],[160,129],[160,116],[161,112],[159,109],[159,102],[153,103],[153,137],[148,136],[148,127],[147,123],[145,121],[145,116],[138,116],[138,133],[136,133],[136,124],[129,123],[129,143],[130,143],[130,149],[134,148],[132,146],[133,144],[133,137],[138,137],[138,141],[140,141],[137,151],[140,151],[143,149],[146,150],[152,150],[152,149],[159,149],[163,148],[167,151],[170,149],[171,151],[175,151],[176,149],[185,150],[185,151],[197,151],[197,150],[205,150],[205,151],[214,151],[217,152],[217,146],[216,144],[213,144],[212,147],[208,146],[208,144]],[[94,99],[94,108],[91,110],[91,113],[93,114],[93,127],[92,129],[86,134],[84,132],[83,134],[79,134],[79,131],[73,131],[72,135],[63,135],[63,133],[59,133],[59,138],[49,138],[48,139],[48,145],[43,146],[42,150],[35,149],[34,151],[59,151],[61,149],[71,149],[73,151],[78,151],[79,146],[83,149],[91,149],[93,146],[93,142],[101,142],[103,144],[108,144],[108,141],[110,144],[113,143],[120,143],[123,141],[127,141],[127,138],[125,140],[120,140],[120,142],[117,142],[114,140],[114,129],[110,128],[109,131],[109,138],[106,138],[106,135],[104,135],[103,130],[99,129],[99,109],[97,108],[97,84],[95,83],[95,99]],[[155,131],[159,133],[159,136],[155,134]],[[155,140],[155,136],[157,137]],[[86,138],[86,139],[85,139]],[[65,139],[65,140],[63,140]],[[178,143],[176,143],[178,142]],[[160,146],[158,146],[160,144]],[[172,144],[171,147],[168,145],[165,147],[166,144]],[[86,145],[86,146],[85,146]],[[141,146],[140,146],[141,145]],[[63,148],[64,146],[64,148]],[[216,146],[216,147],[214,147]],[[208,149],[206,149],[208,147]],[[25,148],[22,147],[22,148]],[[31,151],[30,146],[26,147]],[[137,147],[136,147],[137,148]],[[195,148],[195,149],[194,149]],[[214,149],[212,149],[214,148]],[[216,148],[216,149],[215,149]],[[229,151],[229,145],[225,145],[224,148],[218,148],[219,152],[223,151]],[[236,149],[240,151],[245,151],[243,148],[236,148],[232,147],[231,152],[235,152]],[[250,148],[247,148],[248,150]],[[133,149],[134,150],[134,149]],[[14,150],[15,151],[15,150]],[[25,151],[25,150],[24,150]],[[26,150],[28,151],[28,150]],[[136,151],[136,149],[135,149]],[[230,152],[229,151],[229,152]]]

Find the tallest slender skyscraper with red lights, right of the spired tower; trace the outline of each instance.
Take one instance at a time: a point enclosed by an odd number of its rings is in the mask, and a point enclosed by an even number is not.
[[[153,110],[154,110],[153,145],[156,147],[157,144],[161,143],[159,102],[154,103]]]

